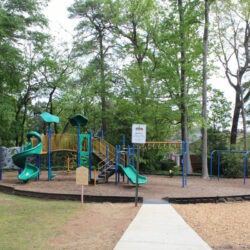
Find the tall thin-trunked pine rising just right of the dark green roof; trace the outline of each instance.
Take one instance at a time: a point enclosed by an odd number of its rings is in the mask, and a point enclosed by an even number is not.
[[[103,0],[76,0],[69,8],[71,18],[79,18],[77,26],[76,53],[89,56],[92,72],[92,86],[100,98],[102,129],[107,131],[108,96],[111,88],[108,66],[109,50],[112,47],[109,20],[112,13],[105,9]]]

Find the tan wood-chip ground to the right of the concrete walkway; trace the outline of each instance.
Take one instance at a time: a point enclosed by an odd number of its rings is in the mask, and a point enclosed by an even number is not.
[[[173,207],[214,249],[250,249],[250,202]]]

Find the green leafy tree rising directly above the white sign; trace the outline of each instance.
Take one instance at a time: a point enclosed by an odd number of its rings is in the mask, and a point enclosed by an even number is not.
[[[136,104],[134,119],[148,122],[147,100],[152,97],[154,86],[150,77],[150,72],[154,70],[150,61],[150,44],[155,25],[155,1],[117,0],[115,4],[111,3],[110,9],[115,13],[112,28],[120,38],[118,53],[128,62],[123,63],[123,93]]]

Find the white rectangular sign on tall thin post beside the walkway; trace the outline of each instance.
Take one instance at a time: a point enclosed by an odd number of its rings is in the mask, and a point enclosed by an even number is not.
[[[140,159],[140,144],[146,143],[146,125],[132,125],[132,143],[137,144],[137,161],[136,161],[136,186],[135,186],[135,206],[138,204],[138,179],[139,179],[139,159]]]

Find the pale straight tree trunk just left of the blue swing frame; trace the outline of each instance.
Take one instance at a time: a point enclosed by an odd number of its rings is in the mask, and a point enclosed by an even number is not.
[[[205,26],[203,34],[203,68],[202,68],[202,177],[208,178],[207,168],[207,56],[208,56],[208,28],[209,28],[209,0],[205,0]]]

